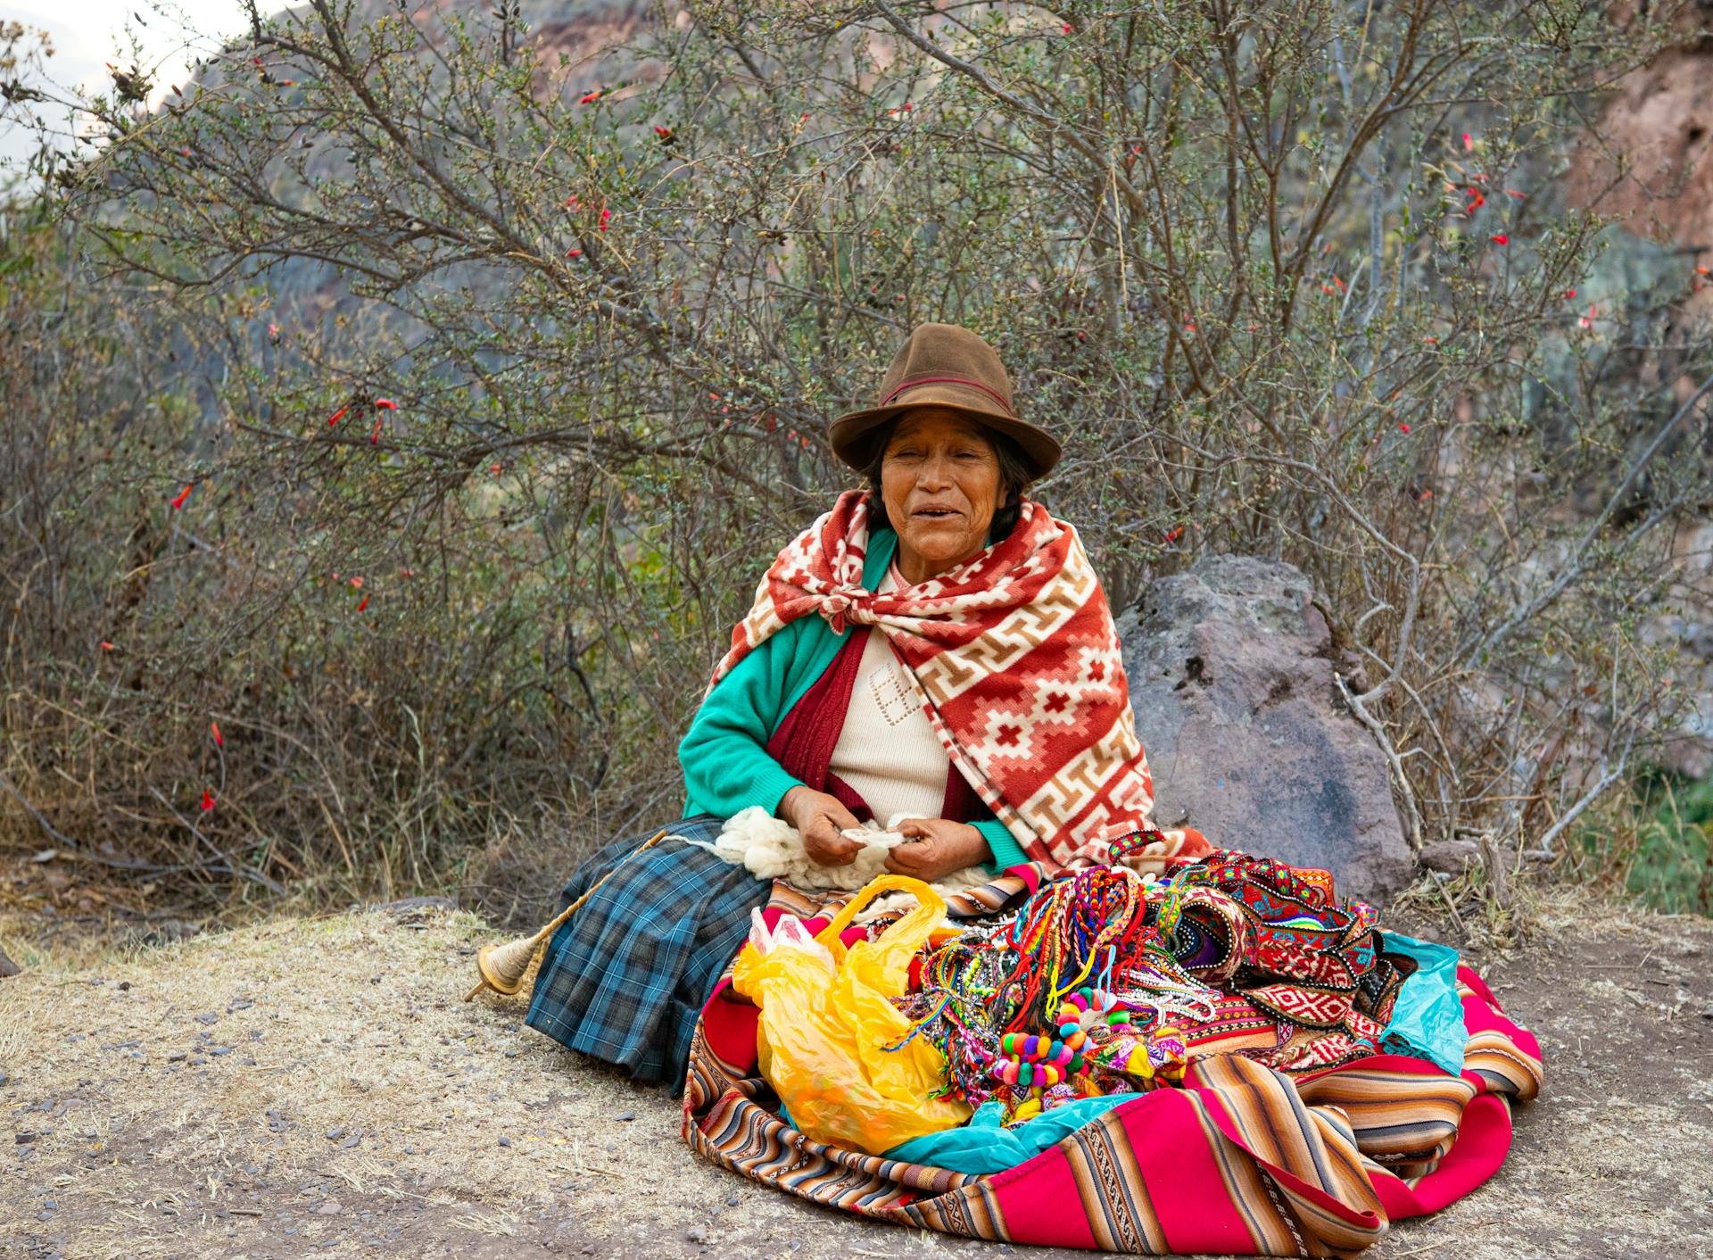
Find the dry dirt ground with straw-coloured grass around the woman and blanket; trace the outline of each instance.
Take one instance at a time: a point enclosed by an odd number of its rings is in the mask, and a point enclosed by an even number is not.
[[[435,907],[77,965],[5,934],[26,970],[0,981],[0,1255],[1050,1255],[695,1159],[675,1099],[524,1029],[517,1001],[463,1001],[490,939]],[[1514,955],[1470,957],[1540,1037],[1545,1095],[1494,1181],[1367,1255],[1713,1255],[1713,924],[1566,903]]]

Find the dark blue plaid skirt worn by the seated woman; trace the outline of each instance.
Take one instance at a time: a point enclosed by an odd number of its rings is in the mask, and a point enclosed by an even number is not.
[[[716,840],[721,825],[697,814],[670,826]],[[618,867],[548,939],[524,1023],[677,1092],[702,1006],[773,881],[675,838],[624,861],[648,835],[615,840],[570,876],[560,910]]]

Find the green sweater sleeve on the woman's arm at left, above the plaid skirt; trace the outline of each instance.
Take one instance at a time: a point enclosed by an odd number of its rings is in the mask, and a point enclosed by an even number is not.
[[[797,634],[786,626],[762,639],[731,667],[690,718],[678,744],[690,814],[731,814],[761,806],[769,814],[779,799],[802,783],[767,754],[767,739],[779,725],[785,674]]]

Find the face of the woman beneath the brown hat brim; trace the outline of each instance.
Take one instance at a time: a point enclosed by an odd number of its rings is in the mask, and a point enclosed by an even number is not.
[[[999,494],[999,456],[978,422],[944,406],[904,411],[880,458],[904,581],[927,581],[987,547]]]

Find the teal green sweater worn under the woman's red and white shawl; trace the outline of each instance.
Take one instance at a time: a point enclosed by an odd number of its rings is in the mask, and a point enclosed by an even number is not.
[[[867,590],[874,590],[886,574],[896,549],[898,535],[891,530],[877,530],[868,540],[868,559],[862,571]],[[762,639],[714,684],[678,744],[687,792],[685,818],[731,818],[747,806],[778,813],[779,801],[802,785],[802,780],[788,775],[767,754],[767,741],[791,706],[827,672],[843,645],[843,636],[833,633],[826,617],[798,617]],[[951,773],[956,775],[958,770]],[[995,869],[1030,861],[997,818],[971,826],[987,838]]]

